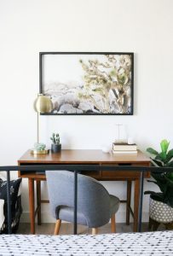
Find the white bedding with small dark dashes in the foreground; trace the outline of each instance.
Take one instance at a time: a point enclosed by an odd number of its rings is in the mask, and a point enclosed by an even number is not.
[[[0,255],[173,255],[173,231],[80,236],[1,235]]]

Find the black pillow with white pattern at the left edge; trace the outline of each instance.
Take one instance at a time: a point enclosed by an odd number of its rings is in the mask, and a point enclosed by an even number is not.
[[[11,218],[12,218],[12,231],[16,230],[19,225],[20,214],[22,212],[20,203],[20,183],[21,178],[10,181],[10,203],[11,203]],[[3,227],[0,227],[0,233],[7,232],[7,219],[8,219],[8,208],[7,208],[7,181],[0,179],[0,200],[4,201],[3,214],[5,221]]]

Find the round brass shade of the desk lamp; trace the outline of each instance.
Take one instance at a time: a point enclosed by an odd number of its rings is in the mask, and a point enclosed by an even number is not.
[[[49,113],[53,109],[53,104],[48,96],[38,94],[34,101],[33,108],[37,113]]]

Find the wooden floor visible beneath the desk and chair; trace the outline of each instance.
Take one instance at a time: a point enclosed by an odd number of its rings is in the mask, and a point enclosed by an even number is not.
[[[43,234],[43,235],[53,235],[54,233],[55,224],[42,224],[38,226],[36,224],[36,234]],[[62,223],[60,235],[71,235],[72,234],[72,224]],[[142,224],[142,231],[148,230],[148,224]],[[159,227],[159,230],[163,230],[163,227]],[[133,224],[126,225],[126,224],[117,224],[117,233],[127,233],[133,232]],[[99,229],[99,234],[107,234],[111,233],[111,224],[107,224]],[[20,223],[20,227],[18,230],[18,234],[30,234],[30,224]],[[91,229],[87,228],[86,226],[78,225],[78,234],[91,234]]]

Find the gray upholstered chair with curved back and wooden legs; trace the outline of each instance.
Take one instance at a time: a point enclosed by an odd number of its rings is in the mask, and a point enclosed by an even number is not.
[[[49,202],[53,216],[56,218],[55,232],[60,230],[61,220],[73,222],[74,174],[68,171],[46,172]],[[115,213],[119,200],[109,195],[107,189],[92,177],[78,174],[78,224],[97,228],[107,224],[111,218],[112,232],[116,231]]]

